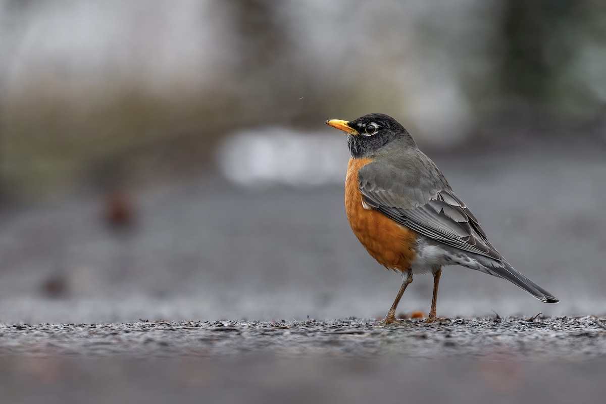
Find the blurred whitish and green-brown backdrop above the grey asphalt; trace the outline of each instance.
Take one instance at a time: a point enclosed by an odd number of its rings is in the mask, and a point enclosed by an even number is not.
[[[207,171],[216,142],[238,128],[319,128],[327,118],[371,111],[399,116],[418,138],[443,147],[504,116],[520,127],[541,121],[534,136],[604,124],[599,1],[71,5],[5,2],[0,10],[5,196]],[[90,36],[90,46],[104,43],[105,31],[90,31],[107,28],[110,36],[112,16],[124,13],[136,17],[129,36],[87,54],[96,64],[79,60],[78,47],[89,44],[78,35]],[[53,22],[57,16],[79,20],[68,25],[73,43],[61,45],[68,28]],[[179,31],[186,22],[205,27],[199,47],[188,45],[198,44],[198,31]],[[178,39],[168,49],[185,50],[163,54],[159,41],[171,35]],[[53,58],[61,46],[67,58]],[[170,68],[150,75],[156,65]],[[205,68],[196,72],[198,65]]]

